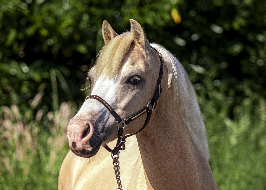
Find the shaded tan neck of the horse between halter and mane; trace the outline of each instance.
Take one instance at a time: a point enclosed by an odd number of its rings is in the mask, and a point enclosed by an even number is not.
[[[164,90],[154,117],[136,135],[147,187],[199,189],[193,146],[172,91]]]

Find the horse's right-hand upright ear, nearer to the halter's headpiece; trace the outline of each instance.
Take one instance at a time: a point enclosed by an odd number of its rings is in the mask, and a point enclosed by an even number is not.
[[[144,49],[149,51],[149,49],[151,49],[151,46],[148,39],[145,37],[141,25],[133,19],[129,19],[129,21],[131,24],[131,33],[134,41],[140,44]]]

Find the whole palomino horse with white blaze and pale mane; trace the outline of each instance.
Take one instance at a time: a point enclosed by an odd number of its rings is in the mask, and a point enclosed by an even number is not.
[[[130,24],[119,35],[102,24],[105,45],[88,72],[91,95],[67,127],[70,151],[58,189],[218,189],[185,69],[163,46],[149,43],[137,21]],[[119,135],[122,130],[136,134]]]

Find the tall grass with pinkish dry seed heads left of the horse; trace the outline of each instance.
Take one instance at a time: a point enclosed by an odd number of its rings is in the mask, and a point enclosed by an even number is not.
[[[40,90],[23,114],[17,105],[0,108],[0,189],[57,189],[74,109],[71,102],[63,102],[57,111],[39,109],[33,118],[43,94]]]

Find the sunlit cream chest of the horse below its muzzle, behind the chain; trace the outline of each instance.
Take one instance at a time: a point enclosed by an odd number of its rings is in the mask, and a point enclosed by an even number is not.
[[[115,146],[115,142],[111,142],[109,146]],[[66,176],[71,179],[69,189],[116,189],[112,159],[105,149],[101,148],[96,156],[89,159],[77,157],[73,153],[66,157],[72,157],[70,161],[63,163],[71,166],[70,176]],[[127,149],[122,151],[119,161],[123,189],[146,190],[144,169],[135,136],[127,139]]]

